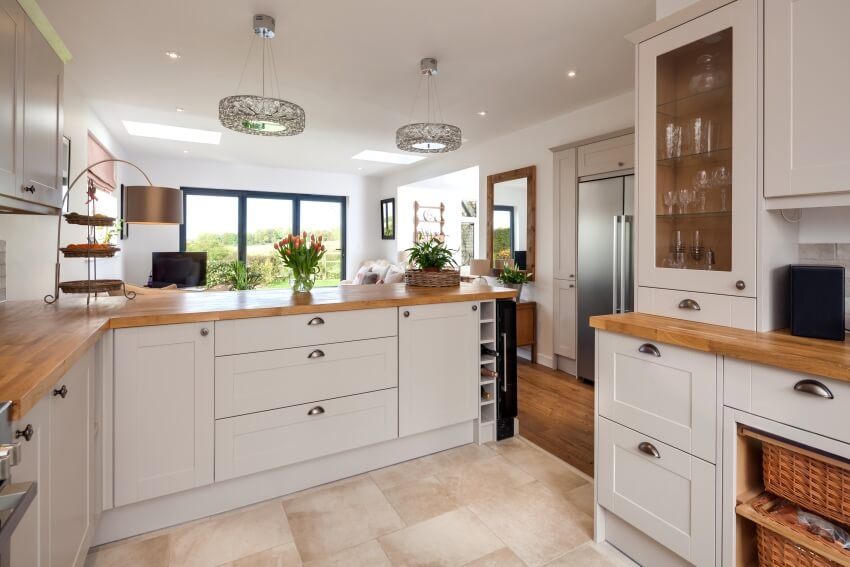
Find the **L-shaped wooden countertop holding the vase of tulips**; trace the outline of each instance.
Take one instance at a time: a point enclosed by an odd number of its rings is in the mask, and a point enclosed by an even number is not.
[[[0,400],[12,400],[10,419],[23,417],[108,329],[272,317],[298,313],[353,311],[511,298],[512,289],[410,288],[403,284],[314,289],[307,297],[284,290],[184,292],[101,297],[63,296],[42,301],[0,303]]]

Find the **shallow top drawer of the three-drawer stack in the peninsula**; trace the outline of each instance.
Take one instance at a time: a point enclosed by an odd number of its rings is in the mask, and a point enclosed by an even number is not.
[[[363,309],[218,321],[215,354],[243,354],[398,335],[398,310]]]

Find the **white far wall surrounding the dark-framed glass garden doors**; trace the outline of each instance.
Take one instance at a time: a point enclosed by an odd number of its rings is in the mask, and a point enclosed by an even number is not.
[[[166,187],[238,189],[348,197],[346,218],[347,275],[367,258],[378,256],[380,240],[380,184],[376,178],[235,165],[222,162],[138,157],[134,160],[151,182]],[[180,247],[179,226],[131,225],[130,237],[121,243],[128,282],[143,285],[151,270],[151,252],[175,252]]]

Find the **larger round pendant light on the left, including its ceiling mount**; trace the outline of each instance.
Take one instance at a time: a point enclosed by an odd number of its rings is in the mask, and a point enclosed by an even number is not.
[[[218,119],[225,128],[243,134],[255,134],[257,136],[295,136],[304,131],[304,109],[295,104],[273,98],[277,86],[277,95],[280,96],[280,81],[277,78],[277,68],[274,61],[274,50],[267,41],[274,37],[274,18],[263,14],[257,14],[253,19],[254,41],[259,37],[262,43],[262,59],[260,66],[260,80],[262,87],[260,95],[234,95],[228,96],[218,103]],[[254,42],[248,50],[248,59],[251,58]],[[272,97],[266,96],[266,53],[269,54],[269,92]],[[245,74],[243,67],[243,76]],[[274,81],[272,81],[274,77]],[[239,78],[239,87],[242,86],[242,78]]]

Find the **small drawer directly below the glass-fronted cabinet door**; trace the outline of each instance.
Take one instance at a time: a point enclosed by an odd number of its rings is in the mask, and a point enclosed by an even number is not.
[[[699,309],[687,307],[692,305],[688,300],[695,302]],[[674,319],[756,330],[756,300],[751,297],[639,287],[637,310]]]

